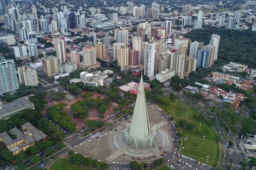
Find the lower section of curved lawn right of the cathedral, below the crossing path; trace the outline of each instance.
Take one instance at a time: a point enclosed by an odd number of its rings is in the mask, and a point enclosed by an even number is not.
[[[206,163],[207,156],[209,156],[207,164],[214,167],[217,166],[219,160],[219,143],[206,138],[204,139],[204,137],[197,136],[188,131],[182,131],[182,134],[188,136],[188,141],[183,141],[183,155],[204,163]],[[182,150],[180,151],[182,153]]]

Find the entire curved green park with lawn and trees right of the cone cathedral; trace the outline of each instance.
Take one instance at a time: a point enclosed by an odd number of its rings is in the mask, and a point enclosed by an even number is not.
[[[177,136],[184,139],[183,143],[179,141],[179,153],[216,167],[220,150],[212,121],[177,99],[158,105],[174,119],[176,127],[179,127]]]

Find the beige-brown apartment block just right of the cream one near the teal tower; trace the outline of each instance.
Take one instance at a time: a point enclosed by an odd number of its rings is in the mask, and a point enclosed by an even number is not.
[[[51,77],[59,73],[57,57],[48,56],[46,58],[43,57],[41,59],[42,59],[43,73],[46,76]]]

